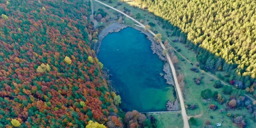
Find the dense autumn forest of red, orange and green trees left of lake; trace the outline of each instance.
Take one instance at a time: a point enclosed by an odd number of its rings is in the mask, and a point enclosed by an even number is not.
[[[122,126],[86,3],[0,1],[0,127],[105,127],[109,116]]]

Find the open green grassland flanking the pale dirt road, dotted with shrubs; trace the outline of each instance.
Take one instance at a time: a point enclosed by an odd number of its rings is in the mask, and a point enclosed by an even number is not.
[[[112,0],[113,3],[108,3],[105,2],[111,6],[115,6],[117,4],[117,0]],[[94,5],[98,4],[95,1],[93,2]],[[131,4],[131,2],[128,2]],[[178,37],[170,37],[168,38],[166,31],[171,31],[171,30],[166,30],[166,29],[162,29],[162,24],[159,23],[157,24],[157,21],[155,20],[155,16],[152,13],[149,13],[147,11],[143,11],[142,9],[139,8],[134,8],[133,6],[130,6],[130,4],[128,3],[122,3],[121,6],[117,6],[117,9],[119,10],[123,10],[123,7],[125,6],[126,8],[130,9],[131,12],[133,13],[133,17],[135,17],[135,15],[137,13],[141,13],[143,15],[143,24],[147,24],[149,22],[153,22],[156,24],[156,26],[152,27],[151,30],[153,31],[157,31],[159,33],[161,33],[163,35],[163,40],[168,39],[168,42],[170,43],[170,45],[172,45],[172,47],[177,47],[179,49],[181,49],[181,51],[179,52],[180,54],[182,54],[182,56],[184,56],[185,58],[187,58],[189,61],[191,61],[192,63],[198,63],[196,61],[196,54],[189,50],[186,45],[179,43],[179,42],[172,42],[171,40],[173,39],[177,39]],[[106,10],[106,9],[105,9]],[[114,12],[114,10],[109,10],[110,12]],[[112,12],[112,13],[113,13]],[[138,19],[137,19],[138,20]],[[124,21],[125,24],[134,24],[135,22],[133,22],[131,19],[127,19],[124,17]],[[216,89],[213,87],[216,79],[210,75],[208,75],[206,72],[200,70],[200,72],[195,73],[193,71],[190,70],[191,67],[196,67],[195,65],[192,66],[189,62],[185,61],[184,58],[182,56],[180,56],[179,54],[176,53],[176,56],[179,59],[179,63],[177,64],[181,69],[180,70],[176,70],[178,73],[184,74],[184,81],[185,81],[185,92],[183,93],[184,95],[184,100],[185,100],[185,104],[196,104],[198,106],[197,109],[195,110],[189,110],[187,109],[187,115],[198,115],[200,113],[203,113],[202,116],[200,116],[199,118],[195,118],[198,122],[197,126],[192,126],[191,127],[202,127],[205,126],[205,121],[209,120],[211,122],[212,125],[215,125],[218,122],[221,122],[221,117],[224,117],[223,120],[224,122],[222,123],[222,127],[237,127],[235,124],[232,123],[231,118],[227,117],[226,114],[227,112],[233,113],[234,114],[238,114],[238,115],[244,115],[245,116],[245,120],[247,123],[247,127],[256,127],[256,123],[251,119],[250,114],[248,112],[248,110],[244,107],[243,109],[236,109],[235,111],[230,110],[230,111],[223,111],[222,113],[219,113],[220,109],[225,109],[225,103],[223,105],[218,104],[216,101],[210,100],[210,101],[206,101],[206,100],[202,100],[200,99],[200,94],[201,91],[204,89],[211,89],[212,92],[214,91],[218,91],[219,93],[221,93],[221,95],[225,98],[225,102],[227,101],[227,99],[229,99],[229,95],[224,95],[222,93],[222,88]],[[198,67],[199,69],[199,67]],[[224,76],[224,72],[217,72],[216,74],[212,74],[215,77],[217,77],[217,74],[220,73],[221,75]],[[193,78],[196,77],[204,77],[201,80],[200,85],[196,85]],[[215,104],[218,106],[218,109],[215,111],[212,111],[211,109],[209,109],[209,105],[210,104]],[[157,115],[156,117],[161,119],[158,120],[158,127],[168,127],[170,125],[170,121],[173,120],[181,120],[182,122],[182,117],[177,117],[177,116],[173,116],[170,113],[164,113],[164,114],[160,114]],[[210,116],[213,116],[214,118],[211,119]],[[175,122],[174,122],[175,123]],[[183,124],[182,124],[183,125]],[[171,125],[173,126],[173,125]],[[180,127],[180,125],[175,125],[177,127]]]

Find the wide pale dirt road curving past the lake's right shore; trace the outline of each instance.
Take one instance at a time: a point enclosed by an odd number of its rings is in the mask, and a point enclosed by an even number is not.
[[[145,25],[141,24],[141,23],[138,22],[136,19],[130,17],[129,15],[123,13],[122,11],[120,11],[120,10],[118,10],[118,9],[115,9],[115,8],[113,8],[113,7],[111,7],[111,6],[107,5],[107,4],[105,4],[105,3],[102,3],[101,1],[98,1],[98,0],[94,0],[94,1],[99,2],[99,3],[101,3],[101,4],[103,4],[103,5],[105,5],[105,6],[109,7],[109,8],[111,8],[111,9],[113,9],[113,10],[115,10],[115,11],[118,11],[119,13],[122,13],[122,14],[125,15],[126,17],[132,19],[134,22],[136,22],[137,24],[139,24],[139,25],[141,25],[143,28],[145,28]],[[152,31],[149,31],[149,32],[150,32],[152,35],[154,35],[154,36],[156,35],[156,34],[153,33]],[[162,42],[160,43],[160,45],[161,45],[161,47],[162,47],[163,49],[166,49],[166,48],[164,47],[164,45],[163,45]],[[180,102],[180,106],[181,106],[181,113],[182,113],[182,118],[183,118],[183,122],[184,122],[183,127],[184,127],[184,128],[189,128],[188,116],[187,116],[187,114],[186,114],[186,109],[185,109],[184,99],[183,99],[183,96],[182,96],[182,91],[181,91],[181,89],[179,88],[179,83],[178,83],[178,80],[177,80],[176,71],[175,71],[174,65],[173,65],[173,63],[172,63],[172,61],[171,61],[171,58],[170,58],[169,54],[166,54],[166,58],[167,58],[167,60],[168,60],[168,62],[169,62],[169,65],[170,65],[170,67],[171,67],[171,70],[172,70],[172,72],[173,72],[173,78],[174,78],[175,86],[176,86],[177,93],[178,93],[178,96],[179,96],[179,102]]]

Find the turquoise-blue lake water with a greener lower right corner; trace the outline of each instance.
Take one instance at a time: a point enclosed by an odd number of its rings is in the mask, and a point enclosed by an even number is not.
[[[97,57],[109,69],[125,112],[165,111],[167,101],[174,101],[173,86],[159,75],[164,63],[150,46],[146,35],[129,27],[102,40]]]

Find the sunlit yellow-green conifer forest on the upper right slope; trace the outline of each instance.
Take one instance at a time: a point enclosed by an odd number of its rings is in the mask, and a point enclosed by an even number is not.
[[[177,26],[193,44],[234,65],[237,74],[256,78],[255,0],[133,1]]]

